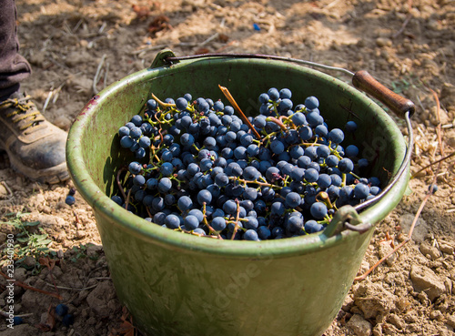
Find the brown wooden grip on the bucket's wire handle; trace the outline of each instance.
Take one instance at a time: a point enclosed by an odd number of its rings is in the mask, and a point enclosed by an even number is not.
[[[352,77],[352,85],[359,88],[372,97],[379,99],[389,107],[398,117],[404,118],[406,112],[410,111],[410,117],[416,111],[414,103],[405,97],[401,97],[380,84],[373,76],[365,70],[360,70]]]

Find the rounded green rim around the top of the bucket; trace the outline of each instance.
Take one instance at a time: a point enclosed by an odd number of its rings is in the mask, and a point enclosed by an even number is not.
[[[126,209],[118,206],[113,200],[107,197],[103,190],[96,186],[96,182],[88,173],[86,164],[82,160],[82,148],[79,146],[79,139],[83,136],[83,130],[86,125],[90,123],[91,117],[96,115],[97,107],[106,104],[106,99],[122,87],[140,83],[144,80],[144,78],[152,76],[153,74],[164,76],[162,75],[163,72],[176,72],[180,68],[190,65],[197,66],[197,64],[200,64],[201,62],[246,63],[250,62],[250,60],[245,58],[233,59],[215,56],[204,59],[181,61],[171,66],[159,66],[155,68],[148,67],[126,76],[103,89],[98,95],[92,97],[81,112],[76,116],[76,119],[74,120],[68,133],[68,140],[66,142],[66,160],[70,176],[73,179],[76,188],[81,193],[83,198],[86,199],[87,203],[94,209],[96,214],[96,224],[98,225],[98,218],[102,217],[105,220],[109,220],[111,224],[116,225],[120,229],[131,231],[141,239],[150,240],[151,242],[160,244],[167,248],[171,246],[172,249],[185,249],[190,252],[204,252],[218,254],[225,257],[229,256],[258,259],[264,259],[270,256],[287,257],[295,254],[317,251],[322,248],[327,249],[346,240],[353,240],[355,237],[359,236],[359,232],[344,230],[332,237],[327,237],[324,234],[324,231],[322,231],[316,234],[296,238],[271,239],[255,242],[243,240],[219,241],[219,239],[200,238],[185,233],[175,232],[170,229],[161,228],[156,224],[148,222],[146,219],[141,219],[138,216],[129,213]],[[282,61],[268,59],[255,59],[254,62],[263,65],[282,64]],[[361,95],[363,99],[368,99],[369,108],[380,110],[382,111],[381,113],[389,117],[373,100],[365,96],[355,87],[349,86],[349,84],[339,80],[338,78],[329,76],[319,70],[315,70],[307,66],[288,66],[295,67],[298,71],[306,73],[308,76],[318,76],[319,78],[327,81],[328,84],[330,83],[330,85],[341,87],[344,92],[349,95],[358,97]],[[395,123],[393,123],[393,126],[402,138],[399,128],[395,125]],[[402,146],[405,148],[404,139],[401,142]],[[372,224],[371,229],[362,234],[371,235],[376,223],[380,220],[378,217],[382,215],[380,214],[378,205],[391,201],[398,203],[396,195],[400,195],[399,199],[401,199],[404,190],[407,188],[408,178],[409,174],[407,173],[405,174],[405,177],[400,178],[399,183],[397,183],[397,185],[390,190],[389,195],[386,195],[384,199],[381,199],[378,204],[373,205],[371,208],[365,209],[359,213],[359,218],[362,222]],[[385,216],[382,216],[382,218],[383,217]],[[101,232],[100,235],[103,236]],[[103,237],[101,238],[103,239]]]

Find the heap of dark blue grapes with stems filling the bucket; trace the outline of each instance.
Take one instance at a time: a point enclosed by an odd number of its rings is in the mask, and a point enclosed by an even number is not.
[[[288,88],[258,97],[245,117],[220,99],[152,95],[120,127],[120,145],[136,161],[122,168],[127,210],[157,225],[217,239],[282,239],[324,229],[343,205],[380,192],[359,148],[343,148],[345,132],[329,129],[317,97],[294,106]],[[143,163],[143,160],[147,160]]]

